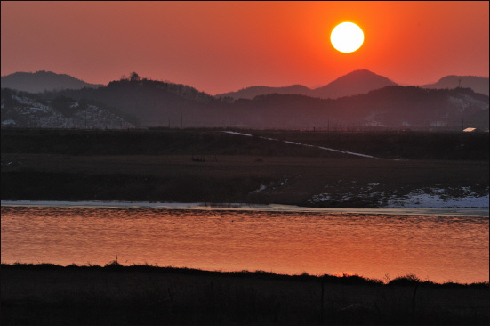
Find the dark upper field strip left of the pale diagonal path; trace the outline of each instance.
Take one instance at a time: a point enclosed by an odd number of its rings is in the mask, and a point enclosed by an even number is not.
[[[271,143],[215,130],[2,129],[2,153],[62,155],[257,155],[339,157],[332,152]],[[207,158],[212,159],[211,157]]]

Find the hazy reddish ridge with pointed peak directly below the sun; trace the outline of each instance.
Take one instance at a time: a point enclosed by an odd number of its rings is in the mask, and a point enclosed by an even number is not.
[[[387,77],[376,75],[374,72],[366,69],[360,69],[339,77],[326,86],[317,87],[315,89],[310,89],[302,85],[285,87],[251,86],[237,92],[217,94],[216,97],[253,99],[255,96],[265,94],[299,94],[321,99],[336,99],[342,96],[364,94],[374,89],[393,85],[397,84]]]

